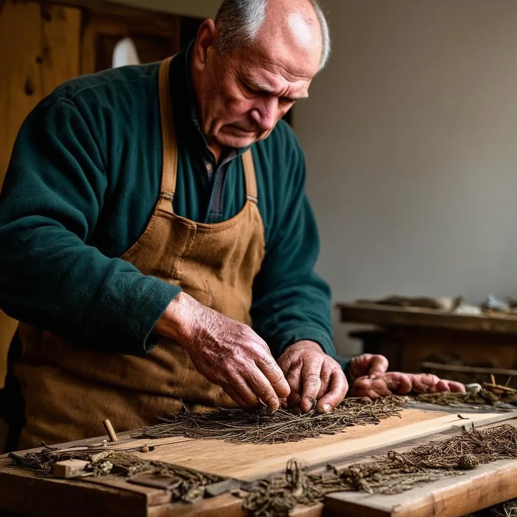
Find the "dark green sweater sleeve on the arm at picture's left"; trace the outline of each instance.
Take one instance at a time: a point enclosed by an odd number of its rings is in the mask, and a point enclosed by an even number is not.
[[[142,354],[180,290],[88,245],[109,202],[104,160],[72,102],[29,114],[0,193],[0,307],[83,346]]]

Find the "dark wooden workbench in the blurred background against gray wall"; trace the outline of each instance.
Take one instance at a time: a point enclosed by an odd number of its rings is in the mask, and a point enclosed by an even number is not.
[[[338,303],[342,323],[369,325],[350,333],[363,351],[388,358],[390,369],[431,372],[463,383],[517,387],[517,315],[470,316],[375,303]],[[373,328],[371,328],[373,327]]]

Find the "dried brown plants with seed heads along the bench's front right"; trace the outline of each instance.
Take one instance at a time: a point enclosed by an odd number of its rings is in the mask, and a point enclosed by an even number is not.
[[[440,442],[390,451],[344,468],[329,466],[324,473],[311,473],[291,460],[283,475],[256,482],[244,506],[255,517],[284,516],[297,505],[322,501],[331,492],[398,494],[503,459],[517,459],[517,428],[505,424],[478,431],[473,426]]]

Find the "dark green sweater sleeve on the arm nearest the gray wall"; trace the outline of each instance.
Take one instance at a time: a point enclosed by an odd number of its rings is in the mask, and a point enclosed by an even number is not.
[[[279,357],[300,340],[319,343],[336,355],[330,321],[330,289],[314,271],[320,241],[305,193],[305,157],[291,135],[292,149],[283,179],[275,179],[281,196],[270,222],[266,254],[253,285],[254,330]]]

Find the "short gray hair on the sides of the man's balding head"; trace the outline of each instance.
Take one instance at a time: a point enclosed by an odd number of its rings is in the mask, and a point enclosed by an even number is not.
[[[224,0],[216,16],[221,53],[245,47],[253,42],[266,19],[269,0]],[[309,0],[316,11],[323,36],[322,56],[318,72],[330,57],[330,30],[323,9],[317,0]]]

